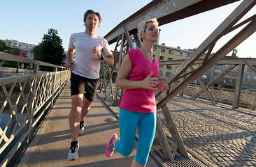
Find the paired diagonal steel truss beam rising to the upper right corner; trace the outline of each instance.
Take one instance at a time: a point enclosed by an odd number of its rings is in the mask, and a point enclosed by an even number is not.
[[[203,54],[204,51],[206,51],[206,48],[211,44],[211,42],[214,41],[216,38],[218,38],[218,35],[220,35],[220,33],[231,28],[234,24],[236,24],[236,22],[238,22],[239,19],[241,19],[241,17],[243,17],[243,15],[245,15],[248,12],[248,10],[250,10],[250,8],[253,8],[253,6],[255,6],[255,3],[256,1],[253,1],[253,0],[243,1],[234,10],[234,12],[231,15],[229,15],[229,17],[227,17],[227,19],[225,19],[225,21],[222,22],[222,24],[220,24],[220,26],[215,31],[213,31],[213,33],[198,47],[198,49],[194,51],[194,54],[192,54],[192,56],[187,58],[185,63],[181,65],[180,72],[177,72],[175,76],[169,77],[167,81],[171,83],[171,81],[175,80],[175,78],[178,75],[182,74],[187,69],[187,67],[190,67],[190,65],[194,63],[195,59],[199,58],[199,56],[201,56],[201,54]],[[200,77],[201,74],[204,74],[206,70],[208,70],[210,67],[215,65],[215,63],[220,61],[223,56],[227,55],[230,51],[232,51],[232,49],[234,49],[241,42],[243,42],[243,40],[246,40],[246,38],[252,35],[255,32],[255,30],[256,30],[256,20],[253,19],[245,28],[243,28],[239,33],[237,33],[234,36],[234,38],[229,40],[229,42],[227,42],[226,45],[224,45],[215,54],[213,54],[213,56],[211,56],[211,58],[209,58],[206,61],[206,63],[201,65],[198,68],[197,72],[195,72],[194,74],[191,74],[190,77],[187,77],[187,79],[183,81],[183,83],[181,83],[174,90],[172,90],[171,93],[166,95],[166,97],[164,97],[164,99],[157,104],[157,109],[160,109],[162,106],[164,106],[164,104],[166,104],[166,102],[169,102],[169,100],[171,100],[174,96],[180,93],[181,90],[183,90],[186,86],[191,84],[192,81]],[[157,93],[159,93],[159,91],[156,92],[155,95],[157,95]]]

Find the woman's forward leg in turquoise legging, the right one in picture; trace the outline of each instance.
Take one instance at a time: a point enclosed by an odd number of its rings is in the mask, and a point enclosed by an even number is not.
[[[142,166],[147,164],[149,152],[155,138],[156,124],[156,112],[145,113],[145,116],[138,123],[138,145],[134,159]]]

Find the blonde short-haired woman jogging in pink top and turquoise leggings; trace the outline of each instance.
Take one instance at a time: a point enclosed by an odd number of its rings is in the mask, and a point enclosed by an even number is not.
[[[157,84],[159,62],[152,55],[152,48],[158,40],[157,19],[149,19],[138,24],[138,34],[143,45],[131,49],[125,55],[116,86],[125,88],[120,104],[120,139],[116,134],[106,146],[106,156],[111,157],[114,150],[127,157],[134,148],[136,129],[138,127],[137,152],[131,163],[132,167],[145,166],[150,148],[155,138],[156,104],[155,90],[162,92],[169,86],[166,79]]]

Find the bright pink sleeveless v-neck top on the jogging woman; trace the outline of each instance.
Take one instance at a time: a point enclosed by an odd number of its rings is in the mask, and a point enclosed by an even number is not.
[[[154,57],[154,62],[148,61],[139,49],[131,49],[127,52],[131,59],[131,72],[127,79],[131,81],[143,81],[152,71],[152,77],[159,77],[159,62]],[[156,111],[155,90],[145,88],[125,89],[119,106],[121,109],[139,113],[153,113]]]

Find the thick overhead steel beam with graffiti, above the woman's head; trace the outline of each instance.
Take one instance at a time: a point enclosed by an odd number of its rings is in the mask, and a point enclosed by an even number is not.
[[[156,17],[159,21],[159,26],[174,22],[178,19],[190,17],[198,13],[203,13],[207,10],[212,10],[220,6],[225,6],[238,0],[160,0],[151,1],[136,13],[120,22],[114,29],[107,33],[104,38],[109,44],[116,42],[118,36],[125,33],[124,26],[127,26],[127,31],[130,34],[137,32],[138,23]]]

